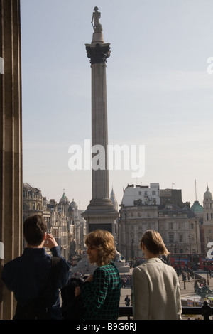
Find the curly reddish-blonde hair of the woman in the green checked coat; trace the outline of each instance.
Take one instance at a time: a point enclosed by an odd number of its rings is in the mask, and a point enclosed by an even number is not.
[[[94,230],[86,236],[85,244],[87,247],[96,247],[98,249],[98,266],[109,264],[116,255],[113,235],[105,230]]]

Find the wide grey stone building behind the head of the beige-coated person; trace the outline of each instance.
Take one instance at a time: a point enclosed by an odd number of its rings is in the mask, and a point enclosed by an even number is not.
[[[142,257],[138,245],[149,229],[160,232],[171,254],[201,251],[199,220],[190,203],[182,203],[181,190],[160,190],[159,183],[128,185],[119,217],[119,252],[126,259]]]

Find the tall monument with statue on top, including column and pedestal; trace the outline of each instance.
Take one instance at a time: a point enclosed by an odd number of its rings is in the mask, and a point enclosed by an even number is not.
[[[106,63],[110,55],[110,43],[104,43],[102,25],[99,23],[100,16],[98,8],[94,7],[92,43],[85,44],[92,69],[92,163],[99,160],[99,168],[92,164],[92,200],[87,210],[82,213],[82,217],[87,220],[87,232],[101,228],[115,236],[115,220],[118,212],[109,199],[109,171],[107,168]],[[100,147],[101,150],[99,150]]]

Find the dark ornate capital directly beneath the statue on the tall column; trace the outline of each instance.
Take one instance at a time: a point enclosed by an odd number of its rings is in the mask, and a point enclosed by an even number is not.
[[[91,64],[105,64],[107,58],[110,56],[110,44],[100,45],[97,43],[95,46],[86,44],[87,57],[90,58]]]

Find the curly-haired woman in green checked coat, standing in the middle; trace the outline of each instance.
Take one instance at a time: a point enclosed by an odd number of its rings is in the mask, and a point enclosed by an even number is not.
[[[121,278],[119,271],[112,262],[116,254],[114,237],[105,230],[90,232],[85,239],[90,263],[98,268],[89,275],[81,291],[86,306],[84,319],[116,320],[119,316]]]

